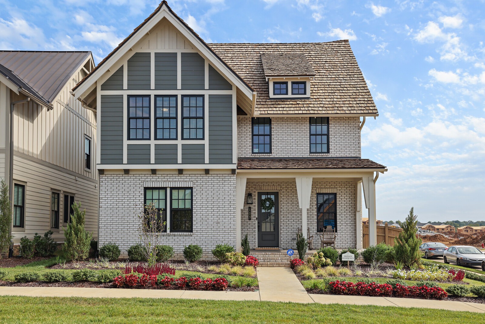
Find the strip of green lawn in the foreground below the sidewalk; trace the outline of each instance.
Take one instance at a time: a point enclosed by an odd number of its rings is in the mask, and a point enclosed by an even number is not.
[[[15,305],[15,307],[13,307]],[[439,316],[436,314],[439,313]],[[483,314],[420,308],[189,299],[0,297],[0,323],[480,323]]]

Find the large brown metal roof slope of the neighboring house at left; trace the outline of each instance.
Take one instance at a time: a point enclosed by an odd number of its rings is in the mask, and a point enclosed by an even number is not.
[[[89,51],[0,51],[0,64],[52,102]]]

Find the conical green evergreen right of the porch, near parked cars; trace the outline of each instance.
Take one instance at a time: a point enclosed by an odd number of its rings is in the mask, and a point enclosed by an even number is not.
[[[411,207],[406,220],[398,223],[403,228],[403,232],[394,239],[394,261],[402,262],[406,267],[419,264],[421,239],[416,238],[418,216],[414,215],[414,207]]]

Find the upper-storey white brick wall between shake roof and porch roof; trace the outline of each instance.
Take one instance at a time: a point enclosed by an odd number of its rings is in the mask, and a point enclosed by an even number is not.
[[[238,117],[238,157],[360,157],[359,117],[329,117],[329,153],[309,153],[308,117],[271,118],[271,154],[253,154],[251,118]]]

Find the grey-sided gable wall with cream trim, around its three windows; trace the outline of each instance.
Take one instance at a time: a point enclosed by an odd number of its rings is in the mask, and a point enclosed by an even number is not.
[[[98,169],[235,169],[236,86],[165,18],[97,80]],[[129,138],[129,97],[148,96],[149,139]],[[175,96],[177,136],[157,139],[157,96]],[[183,97],[202,96],[203,136],[183,139]]]

